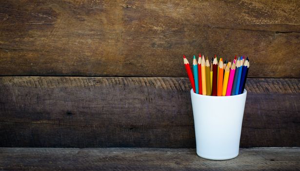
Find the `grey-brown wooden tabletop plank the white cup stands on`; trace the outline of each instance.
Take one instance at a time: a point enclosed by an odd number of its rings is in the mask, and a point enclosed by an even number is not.
[[[42,156],[42,157],[41,157]],[[300,148],[240,149],[232,160],[213,161],[195,149],[0,148],[4,171],[299,171]]]

